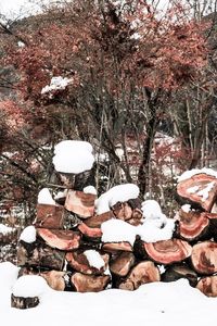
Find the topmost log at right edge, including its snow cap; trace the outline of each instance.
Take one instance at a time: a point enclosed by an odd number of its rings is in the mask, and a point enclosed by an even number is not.
[[[217,172],[212,168],[184,172],[178,178],[177,193],[192,205],[210,212],[217,196]]]

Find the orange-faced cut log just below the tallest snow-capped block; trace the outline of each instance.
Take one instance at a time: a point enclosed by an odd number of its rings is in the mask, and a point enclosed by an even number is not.
[[[92,193],[68,190],[65,200],[65,209],[79,215],[81,218],[88,218],[94,214],[95,198],[97,196]]]

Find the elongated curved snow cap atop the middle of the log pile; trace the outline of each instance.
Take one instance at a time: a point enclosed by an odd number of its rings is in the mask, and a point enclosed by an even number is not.
[[[117,202],[125,202],[129,199],[136,199],[139,196],[139,187],[133,184],[118,185],[103,195],[101,195],[95,200],[95,211],[97,214],[103,214],[108,212],[112,206]]]

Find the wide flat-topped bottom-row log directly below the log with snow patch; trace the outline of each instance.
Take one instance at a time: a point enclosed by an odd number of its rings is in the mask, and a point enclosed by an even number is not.
[[[75,273],[71,276],[71,283],[77,292],[99,292],[105,289],[111,278],[108,275],[94,276]]]

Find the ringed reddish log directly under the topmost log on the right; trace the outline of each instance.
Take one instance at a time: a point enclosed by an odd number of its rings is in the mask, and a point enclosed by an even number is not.
[[[207,240],[209,237],[209,220],[201,212],[180,210],[176,235],[187,241]]]

